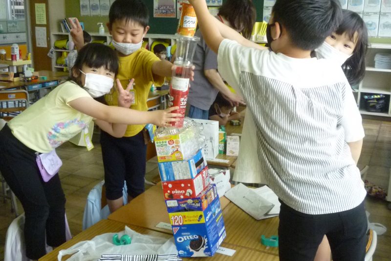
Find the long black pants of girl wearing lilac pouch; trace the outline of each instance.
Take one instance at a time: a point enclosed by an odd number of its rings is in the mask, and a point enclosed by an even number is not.
[[[65,195],[59,175],[44,182],[35,151],[16,139],[7,125],[0,131],[0,171],[22,202],[26,256],[39,259],[49,246],[65,242]]]

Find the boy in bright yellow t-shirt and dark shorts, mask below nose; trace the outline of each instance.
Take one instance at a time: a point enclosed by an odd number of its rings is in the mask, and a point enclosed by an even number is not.
[[[120,69],[118,79],[123,86],[134,78],[134,101],[131,109],[147,111],[147,99],[152,84],[162,86],[165,77],[172,76],[173,64],[160,60],[153,52],[142,48],[142,41],[150,26],[149,11],[142,0],[115,0],[109,11],[109,33],[118,53]],[[71,35],[77,47],[83,46],[83,30],[78,21],[71,22]],[[192,73],[193,74],[193,73]],[[105,96],[109,105],[117,105],[118,92]],[[145,190],[147,145],[145,124],[129,125],[124,137],[116,138],[101,132],[102,157],[105,167],[106,198],[110,212],[123,205],[124,180],[128,187],[128,200]]]

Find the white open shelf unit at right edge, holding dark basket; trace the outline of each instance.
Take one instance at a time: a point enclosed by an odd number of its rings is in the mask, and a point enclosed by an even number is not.
[[[391,54],[391,44],[371,44],[366,56],[366,74],[355,91],[357,104],[361,114],[391,117],[391,70],[375,68],[376,53]],[[385,106],[383,112],[369,112],[365,95],[384,95]]]

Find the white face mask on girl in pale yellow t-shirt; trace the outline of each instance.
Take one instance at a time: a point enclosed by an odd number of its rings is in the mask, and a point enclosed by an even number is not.
[[[96,73],[84,73],[81,70],[79,71],[86,75],[84,87],[93,98],[108,94],[113,87],[114,79],[110,77]]]

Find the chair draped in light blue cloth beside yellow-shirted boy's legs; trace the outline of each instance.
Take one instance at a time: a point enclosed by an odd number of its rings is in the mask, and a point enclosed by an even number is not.
[[[83,214],[83,230],[86,230],[102,219],[106,219],[110,214],[104,185],[105,181],[102,180],[88,193],[87,203]],[[124,205],[128,204],[128,188],[126,187],[126,183],[122,189],[122,196]]]

